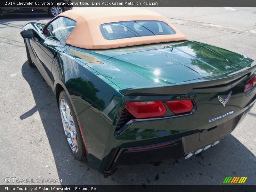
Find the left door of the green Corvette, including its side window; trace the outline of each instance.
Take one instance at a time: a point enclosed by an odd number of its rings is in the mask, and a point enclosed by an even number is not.
[[[36,52],[37,62],[41,67],[41,74],[52,90],[54,90],[52,61],[56,57],[57,51],[66,45],[66,39],[75,25],[76,21],[74,20],[57,17],[45,26],[42,38],[31,43]]]

